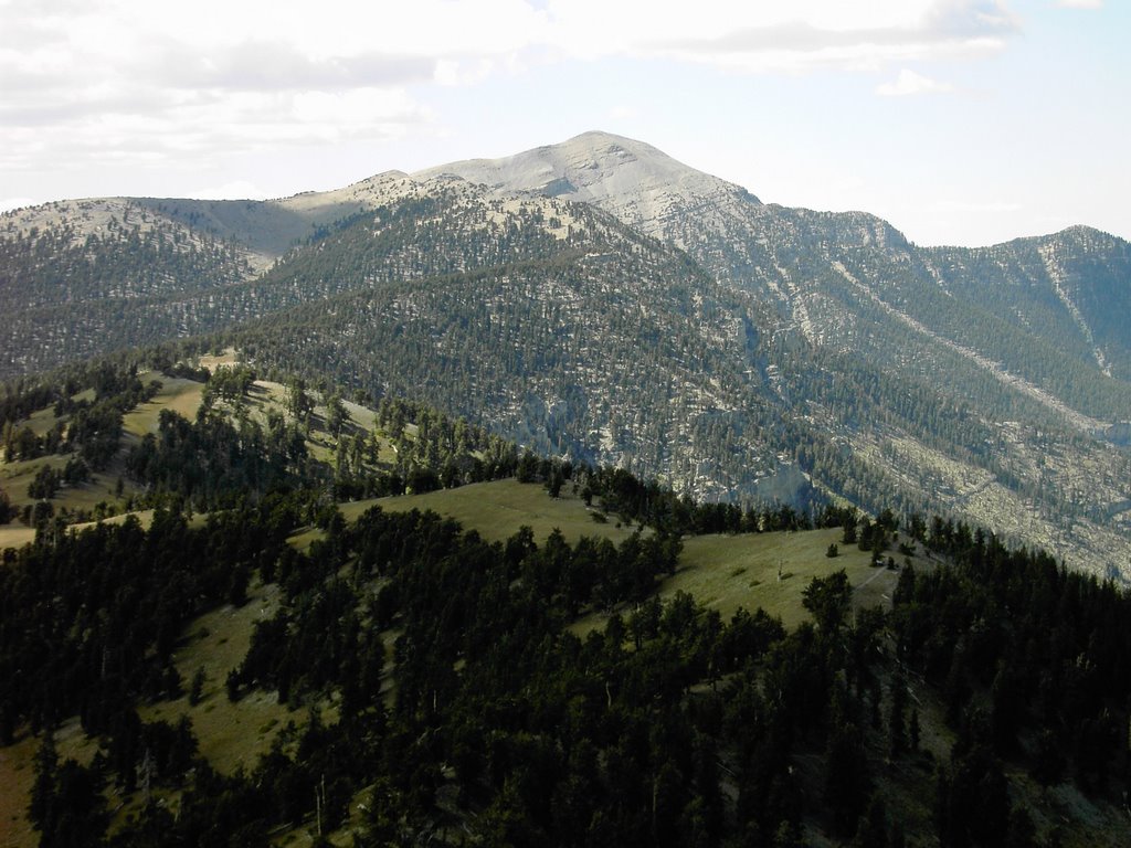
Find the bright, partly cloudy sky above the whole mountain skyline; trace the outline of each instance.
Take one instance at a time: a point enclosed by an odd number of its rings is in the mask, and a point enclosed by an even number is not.
[[[918,244],[1131,239],[1128,0],[0,0],[0,209],[636,138]]]

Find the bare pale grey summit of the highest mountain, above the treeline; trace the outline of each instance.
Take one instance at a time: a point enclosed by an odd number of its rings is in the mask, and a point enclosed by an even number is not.
[[[665,219],[696,208],[760,205],[745,189],[684,165],[651,145],[597,130],[515,156],[454,162],[413,176],[443,173],[499,191],[592,204],[649,235],[658,235]]]

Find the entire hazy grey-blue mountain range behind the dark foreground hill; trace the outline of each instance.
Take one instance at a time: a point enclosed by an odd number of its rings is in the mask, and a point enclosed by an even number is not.
[[[0,374],[207,336],[698,496],[950,511],[1131,576],[1131,245],[921,248],[589,132],[0,218]]]

